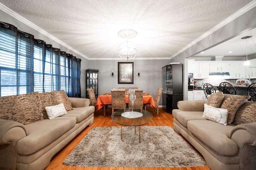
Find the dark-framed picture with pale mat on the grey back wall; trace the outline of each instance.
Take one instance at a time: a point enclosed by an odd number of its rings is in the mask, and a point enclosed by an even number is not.
[[[133,84],[133,62],[118,62],[118,84]]]

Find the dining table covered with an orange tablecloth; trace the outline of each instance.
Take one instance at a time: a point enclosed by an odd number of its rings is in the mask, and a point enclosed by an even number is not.
[[[129,94],[125,95],[125,102],[129,103]],[[95,107],[97,110],[99,110],[108,104],[112,104],[111,93],[104,93],[104,94],[98,96]],[[150,107],[156,108],[153,97],[148,93],[143,94],[143,104],[149,104]],[[104,109],[104,115],[105,115],[105,109]]]

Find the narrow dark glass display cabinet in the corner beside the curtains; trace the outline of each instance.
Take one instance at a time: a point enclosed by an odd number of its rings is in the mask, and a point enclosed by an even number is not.
[[[95,70],[95,69],[86,70],[86,89],[93,88],[96,99],[98,97],[98,72],[99,70]],[[87,90],[86,90],[86,96],[87,98],[89,98]]]

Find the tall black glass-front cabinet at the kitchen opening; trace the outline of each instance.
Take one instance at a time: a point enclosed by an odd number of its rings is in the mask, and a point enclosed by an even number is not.
[[[163,110],[172,113],[172,109],[178,109],[177,102],[183,100],[182,64],[162,67],[162,88]]]

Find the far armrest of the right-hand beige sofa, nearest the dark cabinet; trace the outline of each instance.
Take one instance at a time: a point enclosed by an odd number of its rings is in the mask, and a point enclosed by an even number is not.
[[[177,103],[181,111],[204,111],[206,100],[182,100]]]

